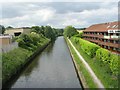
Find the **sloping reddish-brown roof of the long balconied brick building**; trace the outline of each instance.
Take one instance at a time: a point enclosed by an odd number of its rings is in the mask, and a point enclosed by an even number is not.
[[[120,21],[94,24],[84,30],[84,32],[107,32],[108,30],[118,30]]]

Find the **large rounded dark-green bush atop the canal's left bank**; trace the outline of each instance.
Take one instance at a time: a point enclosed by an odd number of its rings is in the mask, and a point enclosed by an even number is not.
[[[30,34],[21,34],[17,40],[19,47],[35,51],[43,41],[48,40],[42,34],[31,32]]]

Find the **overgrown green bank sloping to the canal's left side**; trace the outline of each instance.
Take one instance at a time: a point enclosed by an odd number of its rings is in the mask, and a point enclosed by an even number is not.
[[[3,88],[12,80],[14,76],[19,74],[33,58],[50,43],[49,39],[44,39],[38,48],[32,52],[23,48],[16,48],[8,53],[2,54],[2,85]]]

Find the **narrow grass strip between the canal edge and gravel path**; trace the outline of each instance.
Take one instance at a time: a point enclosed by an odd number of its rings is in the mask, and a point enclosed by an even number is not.
[[[81,82],[83,84],[83,88],[97,88],[96,87],[97,85],[92,80],[92,77],[90,76],[89,72],[85,68],[82,61],[79,60],[79,57],[77,56],[76,52],[74,51],[73,47],[70,45],[70,43],[68,42],[67,39],[66,39],[66,42],[67,42],[68,46],[70,47],[70,51],[71,51],[71,53],[73,55],[73,59],[77,63],[77,67],[78,67],[79,72],[81,74],[80,79],[81,79]]]

